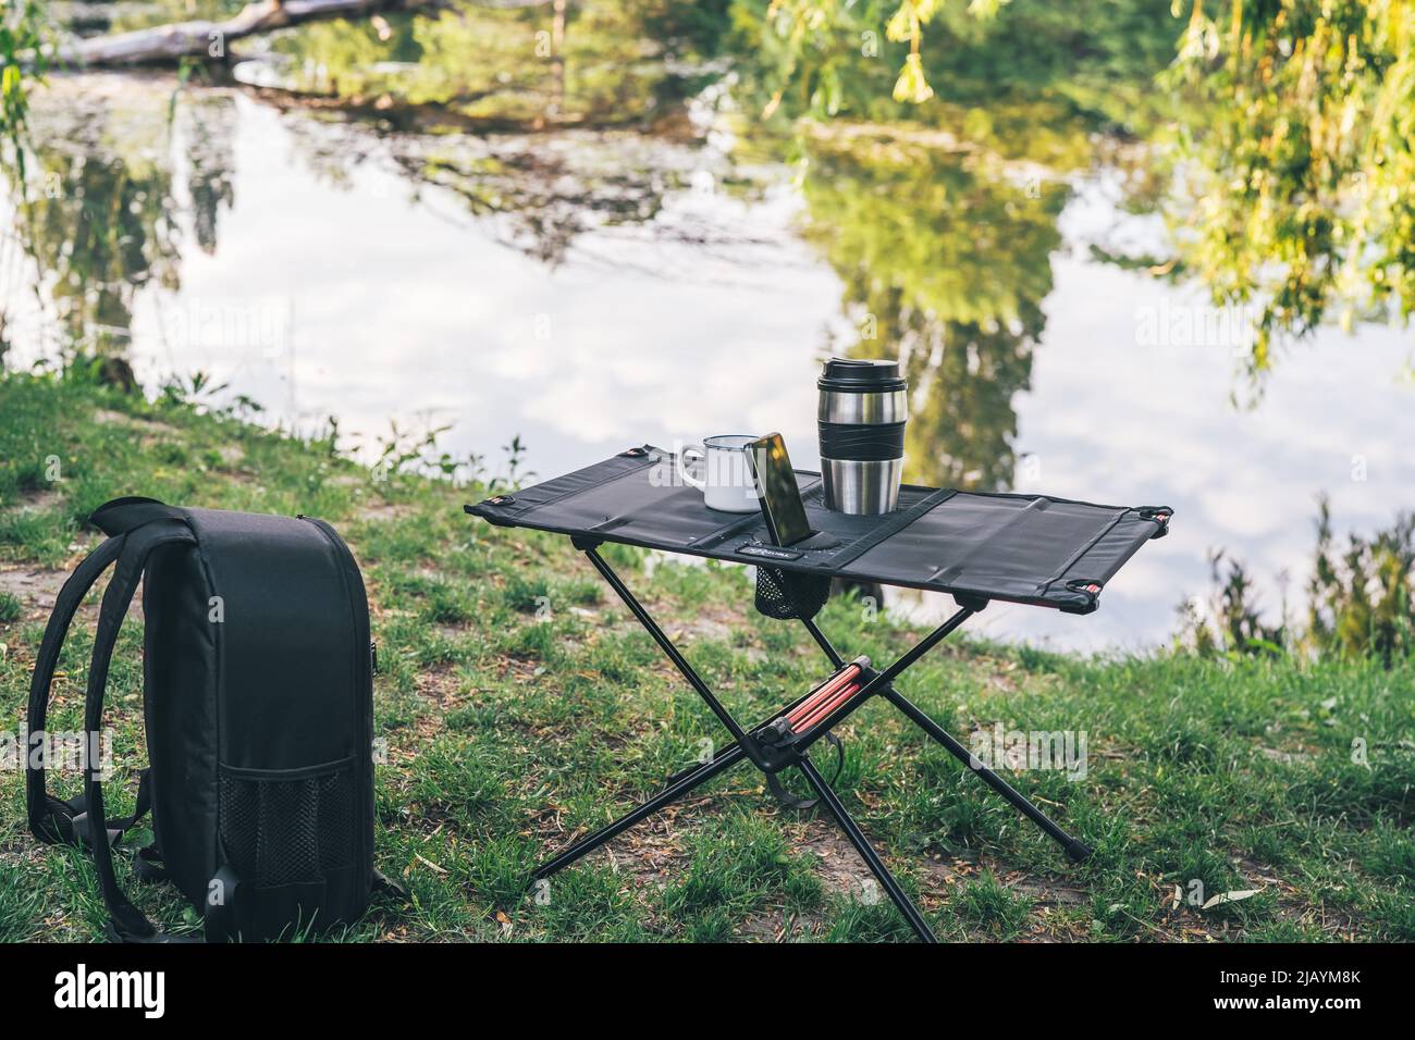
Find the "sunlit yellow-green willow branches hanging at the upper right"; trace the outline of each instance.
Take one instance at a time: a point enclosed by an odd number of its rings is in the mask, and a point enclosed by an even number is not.
[[[1415,4],[1232,0],[1191,8],[1167,79],[1180,129],[1182,259],[1255,308],[1254,372],[1336,313],[1415,308]]]

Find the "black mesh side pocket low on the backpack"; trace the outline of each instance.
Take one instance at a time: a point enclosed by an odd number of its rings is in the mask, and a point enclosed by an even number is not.
[[[352,866],[354,771],[290,780],[221,775],[221,846],[258,887],[318,882]]]

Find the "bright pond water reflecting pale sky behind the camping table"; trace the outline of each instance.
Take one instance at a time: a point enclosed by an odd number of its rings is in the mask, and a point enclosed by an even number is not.
[[[168,122],[173,86],[59,76],[37,96],[35,133],[59,171],[55,229],[38,297],[34,265],[4,246],[11,368],[54,357],[55,324],[82,321],[126,345],[147,386],[204,369],[260,402],[266,422],[314,429],[337,416],[365,454],[396,419],[449,424],[441,446],[492,468],[519,436],[542,478],[630,444],[729,432],[781,430],[797,464],[815,464],[815,374],[859,325],[842,306],[850,279],[832,263],[843,236],[829,209],[812,211],[824,205],[812,192],[833,181],[812,188],[795,167],[744,161],[708,110],[671,137],[433,139],[280,110],[241,89],[190,89]],[[1049,275],[1026,366],[999,376],[988,355],[969,355],[949,368],[949,348],[972,347],[947,341],[913,365],[955,383],[920,388],[944,403],[921,409],[921,436],[937,437],[911,441],[914,477],[937,478],[935,460],[917,457],[930,444],[954,456],[966,456],[957,443],[982,444],[986,468],[988,444],[1002,443],[1012,456],[992,484],[1167,504],[1176,518],[1097,614],[995,604],[975,631],[1153,647],[1176,606],[1207,593],[1211,548],[1245,560],[1275,610],[1281,574],[1293,593],[1306,582],[1319,492],[1339,532],[1415,505],[1409,331],[1322,330],[1238,406],[1231,345],[1163,331],[1201,310],[1201,290],[1090,249],[1159,241],[1155,218],[1128,215],[1104,167],[1053,184],[1064,202],[1027,258]],[[134,228],[109,256],[81,225],[115,205]],[[1007,245],[976,219],[965,231],[978,250]],[[81,265],[83,249],[93,255]],[[985,253],[974,262],[988,269]],[[998,277],[1007,270],[999,262]],[[65,293],[65,280],[85,286]],[[988,383],[990,410],[958,417],[947,393],[972,400],[968,381]],[[942,608],[932,597],[903,606]]]

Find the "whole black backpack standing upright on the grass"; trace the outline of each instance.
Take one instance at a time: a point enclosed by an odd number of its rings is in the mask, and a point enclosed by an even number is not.
[[[117,498],[91,519],[109,538],[59,591],[30,685],[30,828],[92,848],[119,941],[168,938],[113,876],[110,846],[149,807],[156,840],[134,870],[170,880],[202,913],[208,941],[354,921],[386,882],[374,869],[375,654],[348,546],[313,518],[151,498]],[[103,811],[102,763],[86,763],[83,794],[65,802],[33,761],[69,623],[113,562],[83,729],[89,741],[102,730],[109,658],[143,579],[149,768],[120,819]]]

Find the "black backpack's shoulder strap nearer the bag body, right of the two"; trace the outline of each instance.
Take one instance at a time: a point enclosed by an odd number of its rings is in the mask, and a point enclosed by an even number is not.
[[[98,635],[93,640],[93,658],[89,664],[88,696],[83,707],[83,729],[89,734],[102,732],[103,693],[108,686],[108,666],[113,657],[117,632],[127,614],[127,607],[143,577],[143,569],[151,552],[163,545],[197,541],[197,535],[181,519],[156,519],[125,536],[113,580],[103,591],[103,606],[99,610]],[[108,829],[103,811],[103,764],[89,761],[83,774],[83,798],[88,805],[88,826],[92,833],[102,835]],[[113,873],[113,852],[109,842],[89,842],[93,850],[93,866],[98,870],[103,903],[112,918],[109,934],[129,942],[161,942],[168,937],[157,931],[143,913],[132,904],[117,884]]]

